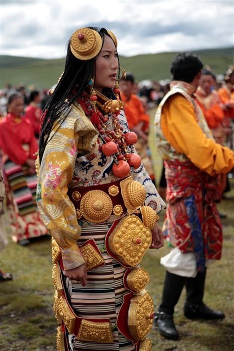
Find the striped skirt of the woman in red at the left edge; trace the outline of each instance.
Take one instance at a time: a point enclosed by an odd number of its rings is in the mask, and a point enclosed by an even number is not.
[[[12,238],[21,241],[47,234],[40,219],[37,204],[37,176],[28,175],[21,165],[9,159],[3,166]]]

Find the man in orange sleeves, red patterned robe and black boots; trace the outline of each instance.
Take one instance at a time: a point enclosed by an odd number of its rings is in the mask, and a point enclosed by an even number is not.
[[[219,260],[222,252],[222,224],[216,206],[220,200],[218,175],[233,168],[234,154],[214,141],[195,100],[202,67],[193,54],[175,57],[170,91],[155,117],[157,148],[164,159],[167,182],[163,232],[173,247],[161,258],[166,275],[156,326],[169,339],[179,337],[173,313],[184,285],[187,318],[225,316],[207,307],[203,295],[206,267],[211,260]]]

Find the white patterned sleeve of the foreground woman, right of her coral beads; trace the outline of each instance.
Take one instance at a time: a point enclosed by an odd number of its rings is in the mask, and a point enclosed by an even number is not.
[[[123,127],[123,132],[124,133],[129,132],[125,115],[120,114],[119,120]],[[142,185],[144,185],[146,189],[147,194],[146,194],[145,205],[151,206],[156,211],[157,214],[161,212],[161,210],[165,208],[166,205],[163,199],[161,198],[161,196],[158,194],[156,187],[152,182],[151,177],[146,171],[144,165],[141,164],[139,168],[135,169],[132,172],[131,175],[133,176],[134,180],[137,180],[138,182],[140,182]]]

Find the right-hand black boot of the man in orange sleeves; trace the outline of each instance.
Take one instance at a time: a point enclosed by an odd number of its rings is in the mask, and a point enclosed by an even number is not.
[[[195,278],[186,278],[186,303],[184,306],[184,315],[189,319],[223,319],[225,315],[221,311],[211,310],[203,303],[204,288],[205,288],[204,272],[198,272]]]

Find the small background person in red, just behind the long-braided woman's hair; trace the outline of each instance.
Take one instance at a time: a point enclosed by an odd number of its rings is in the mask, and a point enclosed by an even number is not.
[[[39,123],[42,110],[39,108],[39,103],[42,98],[38,90],[33,90],[30,93],[29,105],[25,109],[24,118],[30,120],[33,125],[36,138],[39,138]]]

